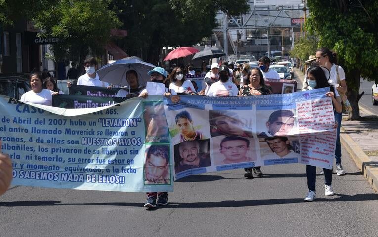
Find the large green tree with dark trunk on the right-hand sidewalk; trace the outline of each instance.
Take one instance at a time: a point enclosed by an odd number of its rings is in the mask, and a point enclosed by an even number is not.
[[[353,108],[349,119],[358,119],[360,77],[378,82],[378,1],[308,0],[308,7],[306,28],[318,36],[319,47],[337,52]]]

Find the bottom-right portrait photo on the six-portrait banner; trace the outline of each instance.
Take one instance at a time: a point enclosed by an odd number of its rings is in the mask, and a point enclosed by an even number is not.
[[[299,143],[298,137],[266,137],[260,139],[260,151],[261,159],[273,160],[273,159],[285,159],[285,158],[300,158],[300,154],[297,149]]]

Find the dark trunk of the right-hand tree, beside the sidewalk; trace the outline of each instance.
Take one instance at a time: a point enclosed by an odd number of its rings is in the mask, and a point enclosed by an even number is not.
[[[358,95],[360,91],[360,71],[354,70],[346,74],[348,91],[346,93],[352,112],[349,112],[348,120],[360,119],[360,108],[358,107]]]

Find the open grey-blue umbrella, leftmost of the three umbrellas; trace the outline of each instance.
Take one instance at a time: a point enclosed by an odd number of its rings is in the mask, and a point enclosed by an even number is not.
[[[138,57],[126,57],[101,67],[97,70],[97,73],[101,81],[123,87],[128,86],[126,72],[135,70],[138,73],[139,86],[146,86],[147,82],[150,81],[150,76],[147,73],[153,68],[155,68],[155,65]]]

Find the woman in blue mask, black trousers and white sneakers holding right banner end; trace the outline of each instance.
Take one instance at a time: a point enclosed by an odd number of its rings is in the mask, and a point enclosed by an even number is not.
[[[325,69],[327,70],[327,69]],[[334,87],[330,86],[328,83],[328,80],[325,76],[325,73],[322,69],[322,67],[311,67],[307,71],[307,83],[309,87],[307,87],[307,90],[312,89],[318,89],[318,88],[330,88],[330,91],[326,93],[327,97],[331,97],[332,99],[332,105],[334,107],[334,110],[336,113],[342,112],[342,106],[341,106],[341,98],[337,93],[337,90],[334,89]],[[335,128],[337,128],[338,123],[335,121]],[[324,189],[325,189],[325,196],[333,196],[334,191],[332,190],[332,168],[325,169],[323,168],[324,172]],[[304,201],[313,201],[316,199],[315,194],[315,178],[316,178],[316,167],[311,165],[306,165],[306,176],[307,176],[307,186],[309,189],[309,192],[304,198]]]

